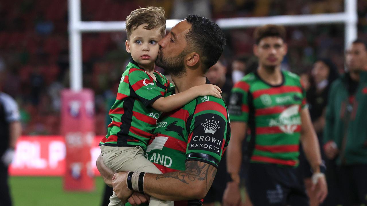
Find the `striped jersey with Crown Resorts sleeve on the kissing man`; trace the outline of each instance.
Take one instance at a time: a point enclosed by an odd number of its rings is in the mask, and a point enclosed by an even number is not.
[[[222,99],[204,96],[163,113],[145,157],[162,173],[185,170],[196,160],[215,167],[229,143],[228,111]]]

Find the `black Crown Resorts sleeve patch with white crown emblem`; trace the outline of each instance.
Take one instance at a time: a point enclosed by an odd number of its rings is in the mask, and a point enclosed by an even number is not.
[[[217,114],[202,114],[194,119],[195,129],[188,150],[204,150],[221,154],[226,122]]]

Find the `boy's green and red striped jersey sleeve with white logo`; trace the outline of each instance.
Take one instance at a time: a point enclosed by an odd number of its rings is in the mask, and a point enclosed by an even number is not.
[[[144,70],[131,68],[128,78],[131,88],[145,106],[164,96],[164,91],[161,91],[153,78]]]

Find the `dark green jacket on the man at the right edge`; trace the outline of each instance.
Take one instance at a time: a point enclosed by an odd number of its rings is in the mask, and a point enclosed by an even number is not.
[[[331,85],[324,141],[337,144],[338,165],[367,164],[367,72],[360,74],[354,100],[350,100],[348,93],[348,75]]]

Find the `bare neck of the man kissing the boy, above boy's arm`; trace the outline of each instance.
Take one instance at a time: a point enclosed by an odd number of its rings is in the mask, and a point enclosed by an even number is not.
[[[175,83],[176,93],[183,92],[191,87],[199,86],[206,83],[206,77],[197,74],[185,73],[180,77],[171,76]]]

